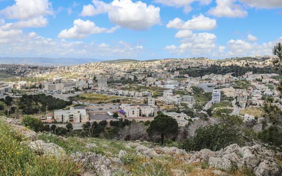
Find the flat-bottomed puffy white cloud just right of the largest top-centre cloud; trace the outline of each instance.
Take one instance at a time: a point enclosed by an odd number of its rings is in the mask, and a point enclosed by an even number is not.
[[[210,19],[200,14],[199,16],[193,16],[191,20],[184,22],[179,18],[175,18],[169,21],[167,28],[175,29],[188,29],[188,30],[212,30],[217,27],[217,21]]]

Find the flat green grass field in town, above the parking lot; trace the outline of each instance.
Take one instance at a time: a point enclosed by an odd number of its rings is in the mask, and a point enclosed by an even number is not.
[[[121,97],[117,96],[108,96],[108,95],[102,95],[102,94],[93,94],[93,93],[84,93],[81,95],[78,95],[75,97],[75,100],[83,100],[83,101],[88,101],[88,102],[93,102],[93,103],[98,103],[98,102],[107,102],[115,99],[121,99]]]

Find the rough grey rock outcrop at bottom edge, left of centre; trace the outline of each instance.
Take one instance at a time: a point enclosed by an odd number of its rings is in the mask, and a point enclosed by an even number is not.
[[[82,175],[104,175],[109,176],[113,173],[111,161],[100,154],[93,152],[86,153],[72,153],[70,158],[73,158],[75,162],[83,164]]]

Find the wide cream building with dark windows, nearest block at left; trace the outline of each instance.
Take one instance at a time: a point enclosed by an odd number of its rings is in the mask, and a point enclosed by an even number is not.
[[[82,106],[70,107],[69,110],[54,110],[54,120],[63,123],[86,123],[89,116]]]

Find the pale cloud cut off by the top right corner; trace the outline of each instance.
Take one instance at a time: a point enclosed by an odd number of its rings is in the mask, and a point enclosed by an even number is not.
[[[281,0],[239,0],[253,8],[273,9],[282,8]]]

